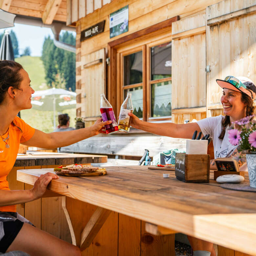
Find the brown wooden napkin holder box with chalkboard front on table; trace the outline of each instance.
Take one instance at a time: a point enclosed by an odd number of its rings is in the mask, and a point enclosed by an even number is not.
[[[210,155],[176,153],[175,175],[184,182],[209,182]]]

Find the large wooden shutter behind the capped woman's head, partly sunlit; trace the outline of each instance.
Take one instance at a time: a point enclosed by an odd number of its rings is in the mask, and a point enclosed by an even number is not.
[[[207,116],[223,113],[216,79],[234,75],[256,81],[255,12],[255,0],[226,0],[206,8]]]

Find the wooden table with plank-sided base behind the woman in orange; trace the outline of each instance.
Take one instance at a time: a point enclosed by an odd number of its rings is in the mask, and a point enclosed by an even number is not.
[[[107,162],[107,156],[65,154],[33,151],[19,154],[14,167],[7,176],[10,189],[31,189],[32,185],[17,181],[18,169],[54,168],[61,164],[98,163]],[[17,212],[29,219],[36,227],[41,228],[63,240],[71,241],[69,227],[61,206],[59,195],[51,198],[42,198],[29,203],[17,205]]]

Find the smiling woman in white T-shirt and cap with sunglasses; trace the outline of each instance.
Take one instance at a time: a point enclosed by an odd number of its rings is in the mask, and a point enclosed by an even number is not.
[[[246,77],[227,76],[224,80],[217,79],[216,82],[223,88],[221,103],[225,116],[207,117],[195,123],[175,124],[144,122],[129,113],[132,117],[131,126],[157,135],[183,139],[191,139],[195,130],[202,131],[203,135],[209,134],[213,140],[215,158],[236,154],[237,146],[229,142],[227,128],[232,122],[253,114],[256,87]],[[214,161],[211,164],[214,165]],[[195,256],[209,256],[211,252],[211,255],[215,255],[212,243],[193,237],[189,237],[189,241]]]

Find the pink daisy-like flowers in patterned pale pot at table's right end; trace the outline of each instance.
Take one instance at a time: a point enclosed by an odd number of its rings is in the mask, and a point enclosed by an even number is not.
[[[246,154],[250,186],[256,188],[256,117],[244,117],[232,123],[228,131],[229,142],[238,145],[238,151]]]

